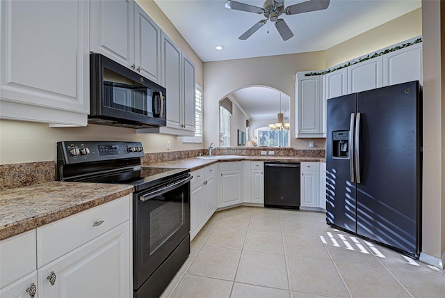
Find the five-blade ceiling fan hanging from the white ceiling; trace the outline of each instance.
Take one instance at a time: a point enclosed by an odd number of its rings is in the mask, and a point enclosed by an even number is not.
[[[225,3],[225,8],[247,11],[248,13],[257,13],[259,15],[263,14],[264,17],[266,17],[266,19],[261,19],[257,24],[254,24],[248,31],[245,31],[245,33],[238,37],[238,39],[246,40],[250,38],[253,33],[257,32],[258,29],[264,26],[269,20],[270,22],[275,22],[275,27],[277,28],[278,33],[280,33],[280,36],[286,41],[293,36],[293,33],[289,26],[287,26],[286,22],[284,22],[284,19],[279,18],[280,15],[283,13],[285,15],[296,15],[298,13],[323,10],[329,6],[329,3],[330,0],[309,0],[284,8],[284,0],[266,0],[263,7],[228,0]]]

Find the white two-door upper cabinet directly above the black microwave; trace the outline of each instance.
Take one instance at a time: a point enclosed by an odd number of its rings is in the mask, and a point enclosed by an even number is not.
[[[91,1],[90,43],[91,52],[163,85],[161,29],[133,0]]]

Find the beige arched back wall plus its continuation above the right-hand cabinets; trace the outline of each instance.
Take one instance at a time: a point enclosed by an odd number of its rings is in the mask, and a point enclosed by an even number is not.
[[[218,143],[219,100],[241,88],[264,85],[291,97],[291,147],[309,149],[309,141],[314,141],[314,149],[324,149],[325,139],[294,137],[296,72],[323,70],[419,35],[421,35],[421,9],[398,17],[326,51],[204,63],[205,143]]]

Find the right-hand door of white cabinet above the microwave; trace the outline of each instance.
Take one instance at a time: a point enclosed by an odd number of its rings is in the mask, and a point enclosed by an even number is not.
[[[136,70],[163,85],[161,72],[161,29],[145,11],[134,6],[134,56]]]

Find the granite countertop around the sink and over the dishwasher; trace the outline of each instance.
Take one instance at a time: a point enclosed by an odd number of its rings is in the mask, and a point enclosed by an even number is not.
[[[325,162],[320,157],[295,157],[295,156],[243,156],[230,159],[201,159],[198,157],[178,159],[171,162],[161,162],[159,164],[150,164],[147,167],[153,168],[188,168],[190,171],[196,171],[200,168],[216,164],[217,162],[238,162],[238,161],[254,161],[254,162]]]

